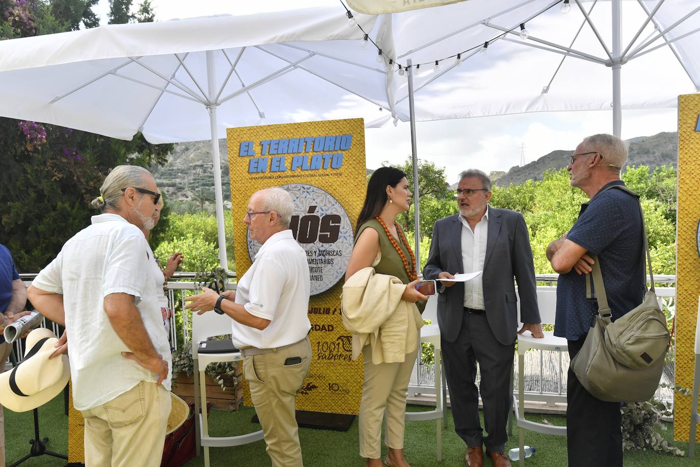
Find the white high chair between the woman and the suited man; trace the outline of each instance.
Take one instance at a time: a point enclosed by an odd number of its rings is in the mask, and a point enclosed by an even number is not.
[[[447,426],[447,410],[444,410],[446,384],[443,381],[442,367],[442,348],[440,347],[440,328],[437,326],[437,294],[431,295],[428,298],[426,309],[423,311],[423,319],[430,319],[429,326],[421,328],[421,344],[428,342],[433,344],[435,349],[435,410],[426,412],[406,412],[406,421],[416,420],[435,420],[437,426],[435,449],[437,450],[437,461],[442,460],[442,419],[444,426]],[[421,352],[418,352],[418,358],[421,358]]]

